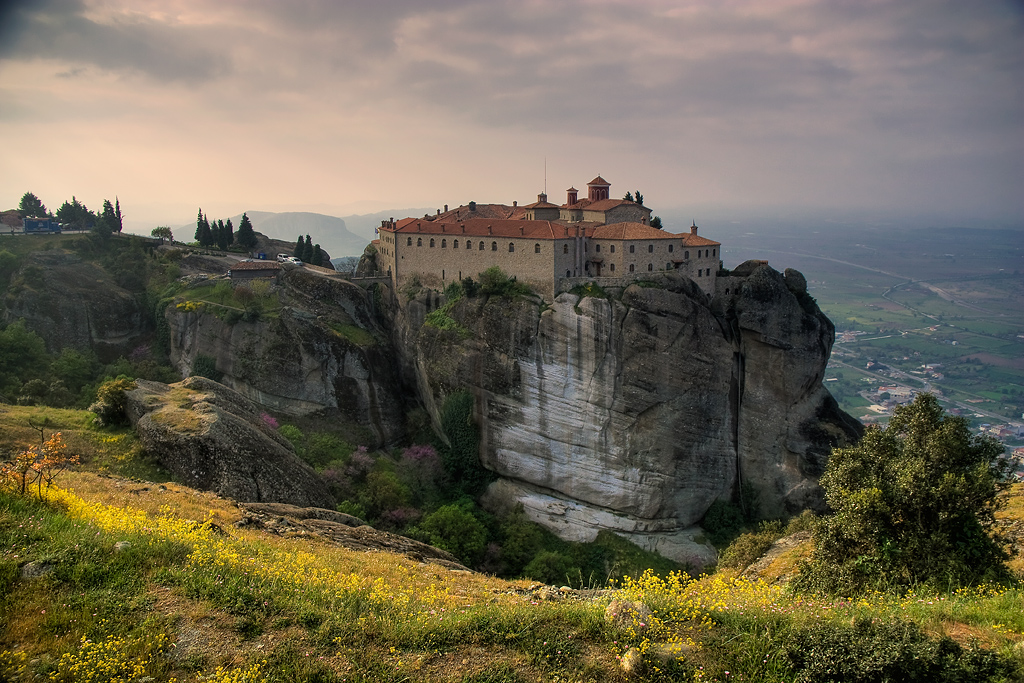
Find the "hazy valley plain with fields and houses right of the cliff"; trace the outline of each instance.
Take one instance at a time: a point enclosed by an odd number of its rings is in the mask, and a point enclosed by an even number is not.
[[[761,258],[807,278],[836,325],[825,385],[851,415],[885,421],[865,395],[899,385],[935,392],[977,427],[1022,422],[1021,231],[808,225],[720,239],[726,267]]]

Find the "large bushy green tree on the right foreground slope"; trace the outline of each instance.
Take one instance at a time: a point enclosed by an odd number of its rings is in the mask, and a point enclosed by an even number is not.
[[[919,394],[888,427],[833,450],[821,487],[834,514],[816,528],[798,586],[846,594],[1005,578],[994,512],[1014,465],[998,441]]]

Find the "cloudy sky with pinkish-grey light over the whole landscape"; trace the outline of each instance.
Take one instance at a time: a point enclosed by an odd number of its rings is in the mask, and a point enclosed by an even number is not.
[[[528,203],[546,164],[559,202],[1024,223],[1019,0],[2,6],[0,208]]]

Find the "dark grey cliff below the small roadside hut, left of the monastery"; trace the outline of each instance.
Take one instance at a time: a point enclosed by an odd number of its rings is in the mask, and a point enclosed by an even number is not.
[[[228,322],[215,311],[168,307],[171,362],[189,375],[200,355],[210,356],[223,384],[272,411],[327,411],[362,443],[396,441],[408,393],[372,295],[302,268],[282,279],[286,305],[276,317]]]

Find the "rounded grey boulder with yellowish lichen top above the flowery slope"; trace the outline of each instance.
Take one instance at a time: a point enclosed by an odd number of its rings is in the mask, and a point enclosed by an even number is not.
[[[202,377],[136,384],[126,395],[139,440],[186,485],[240,502],[335,507],[316,473],[238,392]]]

